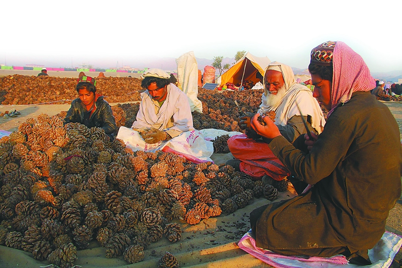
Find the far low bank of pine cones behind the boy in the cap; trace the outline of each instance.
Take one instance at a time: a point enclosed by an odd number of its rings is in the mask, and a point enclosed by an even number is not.
[[[70,103],[78,98],[77,78],[8,75],[0,77],[0,104]],[[109,103],[140,101],[141,80],[131,77],[96,79],[96,92]],[[51,94],[49,94],[51,93]]]

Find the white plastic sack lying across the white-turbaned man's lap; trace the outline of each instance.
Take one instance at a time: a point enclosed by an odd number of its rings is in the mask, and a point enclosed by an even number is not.
[[[213,143],[205,140],[203,133],[198,130],[183,132],[166,142],[160,141],[149,144],[144,141],[137,131],[131,128],[120,127],[117,138],[122,139],[126,146],[130,147],[133,151],[155,152],[162,150],[181,155],[194,163],[212,162],[210,156],[214,152]]]

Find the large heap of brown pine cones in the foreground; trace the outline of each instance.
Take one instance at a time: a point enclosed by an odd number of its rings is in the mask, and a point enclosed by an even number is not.
[[[138,262],[162,236],[180,240],[177,221],[197,224],[272,198],[231,166],[133,152],[101,128],[46,114],[0,139],[0,172],[0,244],[59,267],[73,266],[94,239],[106,257]]]

